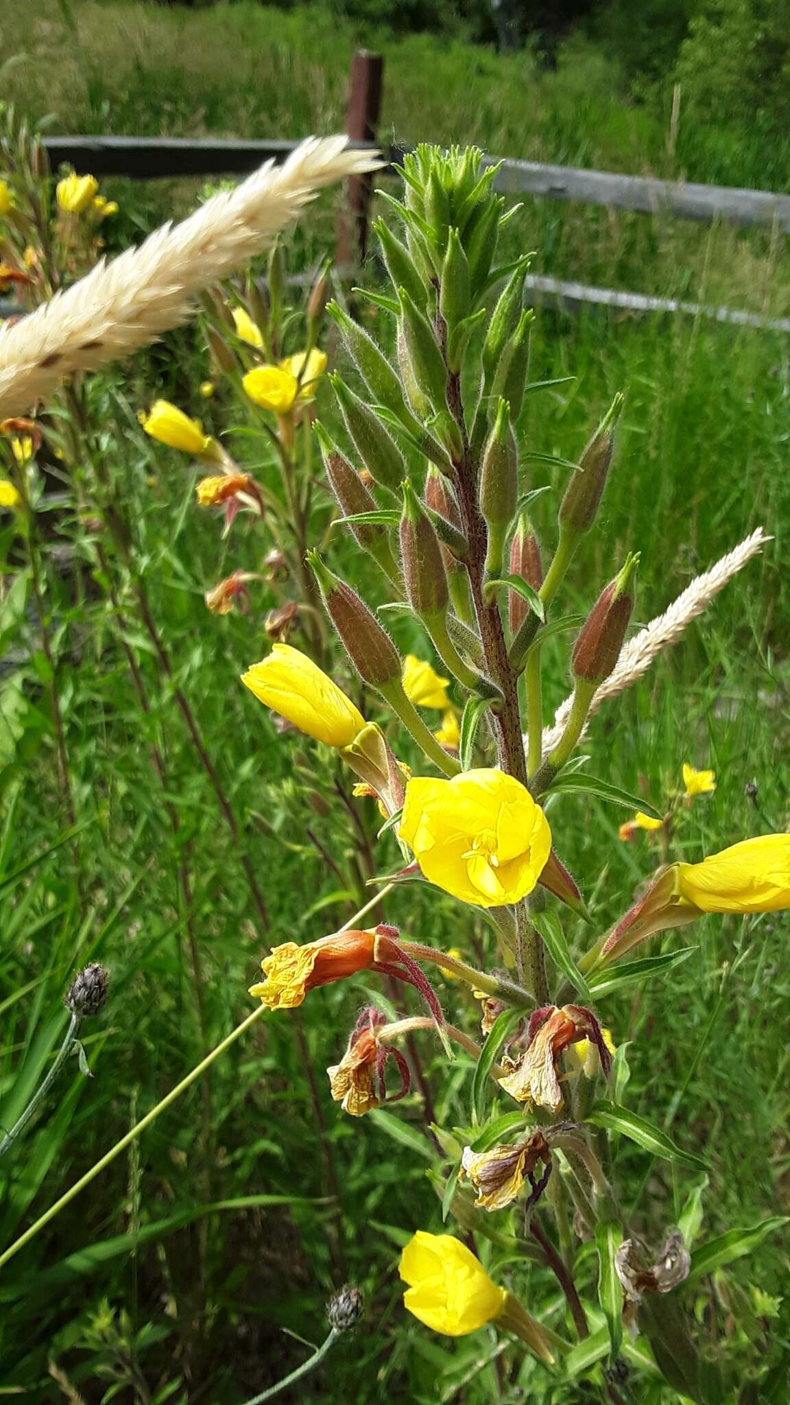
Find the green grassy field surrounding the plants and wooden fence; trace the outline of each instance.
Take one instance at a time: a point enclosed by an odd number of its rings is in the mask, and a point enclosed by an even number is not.
[[[187,13],[35,0],[27,14],[24,32],[14,28],[6,41],[6,55],[18,49],[18,56],[4,72],[4,96],[32,118],[53,114],[59,131],[299,136],[342,124],[358,35],[320,10],[239,4]],[[367,38],[385,48],[382,131],[398,140],[477,140],[503,155],[694,180],[776,180],[776,152],[763,153],[760,166],[752,150],[727,152],[713,138],[706,146],[706,133],[685,132],[683,122],[672,153],[659,112],[628,104],[593,51],[569,51],[558,73],[545,74],[527,59],[500,60],[461,44]],[[193,197],[170,187],[131,191],[118,183],[118,190],[124,208],[111,236],[118,244],[170,197],[177,209]],[[304,261],[329,244],[332,226],[332,205],[322,202],[308,233],[295,236],[294,257]],[[510,229],[514,249],[537,250],[541,273],[768,313],[784,313],[790,302],[790,261],[770,232],[550,202],[527,204]],[[378,280],[373,261],[367,274]],[[371,326],[378,326],[375,316]],[[111,431],[112,492],[132,523],[135,559],[171,677],[134,618],[134,579],[110,548],[118,608],[108,603],[84,503],[69,507],[65,518],[42,518],[48,559],[56,562],[52,548],[63,540],[76,551],[76,566],[52,570],[46,600],[73,825],[55,769],[51,660],[41,651],[30,583],[27,600],[11,584],[20,555],[3,518],[4,1125],[63,1035],[60,995],[75,968],[103,960],[112,985],[104,1014],[84,1027],[93,1080],[75,1061],[58,1097],[4,1162],[0,1250],[250,1007],[246,986],[260,961],[261,924],[176,687],[187,695],[219,783],[243,819],[273,917],[268,940],[316,936],[316,924],[329,930],[356,906],[339,894],[336,877],[304,835],[305,797],[315,788],[311,769],[320,790],[330,783],[329,763],[294,736],[278,736],[238,684],[242,669],[263,653],[263,611],[273,600],[261,592],[249,615],[221,620],[202,601],[207,584],[235,566],[254,569],[267,544],[236,528],[219,545],[215,524],[191,510],[186,459],[145,440],[136,426],[139,406],[164,392],[202,413],[209,430],[232,427],[233,410],[222,396],[200,402],[205,375],[202,348],[186,330],[129,368],[96,378],[90,392],[94,423]],[[524,422],[536,450],[569,459],[613,393],[627,391],[602,531],[574,568],[571,607],[589,604],[626,549],[640,549],[637,615],[644,622],[755,525],[775,538],[648,679],[599,717],[585,746],[589,770],[656,798],[678,787],[685,760],[714,767],[718,788],[690,811],[678,836],[682,857],[787,828],[786,339],[685,318],[543,312],[531,375],[576,378],[536,396]],[[325,417],[329,400],[325,386]],[[242,450],[247,454],[252,462],[254,451]],[[534,486],[550,481],[543,469],[533,476]],[[547,493],[536,503],[547,541],[555,502]],[[333,558],[336,565],[346,559],[343,552]],[[145,679],[148,712],[141,712],[119,642],[118,610],[128,617],[124,635]],[[394,632],[402,648],[415,646],[409,625],[396,622]],[[547,711],[566,691],[566,658],[557,648]],[[152,743],[164,759],[163,787],[150,763]],[[304,756],[306,771],[294,774],[294,760]],[[620,895],[651,873],[651,842],[619,843],[623,815],[597,801],[582,809],[559,797],[551,818],[562,826],[564,851],[574,856],[575,875],[604,930],[621,910]],[[374,832],[374,819],[365,823]],[[320,811],[315,833],[332,850],[333,822]],[[395,863],[389,836],[380,871]],[[461,922],[458,913],[450,902],[429,903],[420,889],[406,888],[392,895],[385,916],[439,946],[471,940],[485,948],[488,929],[468,909]],[[672,1128],[708,1162],[707,1236],[789,1210],[787,922],[782,913],[751,926],[732,917],[692,933],[687,941],[666,939],[666,948],[697,947],[683,965],[652,982],[644,998],[613,995],[603,1013],[617,1044],[628,1044],[630,1106]],[[124,1402],[236,1405],[302,1360],[304,1346],[284,1331],[319,1340],[322,1304],[347,1277],[368,1298],[365,1325],[337,1347],[323,1381],[316,1377],[294,1399],[478,1405],[499,1398],[479,1339],[471,1339],[477,1347],[470,1356],[468,1343],[454,1347],[406,1326],[399,1307],[398,1248],[415,1227],[436,1229],[440,1218],[426,1176],[420,1096],[410,1094],[396,1110],[401,1139],[387,1116],[357,1124],[328,1097],[323,1069],[336,1061],[364,989],[364,981],[332,986],[305,1006],[304,1019],[259,1023],[3,1272],[0,1392],[93,1405],[110,1399],[103,1392],[117,1385]],[[457,985],[443,984],[441,993],[457,1023],[474,1020]],[[437,1121],[462,1124],[471,1065],[460,1059],[443,1079],[443,1061],[427,1038],[422,1052]],[[668,1162],[649,1166],[626,1141],[617,1146],[617,1175],[649,1242],[678,1221],[699,1184]],[[784,1272],[776,1236],[720,1276],[713,1291],[699,1293],[699,1318],[728,1333],[744,1371],[755,1356],[769,1364],[787,1360]],[[529,1373],[522,1387],[534,1392],[526,1398],[543,1398]],[[599,1397],[569,1387],[562,1398]],[[678,1399],[652,1384],[638,1398],[648,1405]]]

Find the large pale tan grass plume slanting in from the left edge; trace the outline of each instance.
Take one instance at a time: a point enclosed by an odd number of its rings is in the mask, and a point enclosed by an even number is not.
[[[311,136],[283,166],[267,162],[0,329],[0,419],[30,409],[69,372],[125,357],[184,322],[195,292],[260,253],[322,187],[380,164],[375,153],[349,150],[346,136]]]

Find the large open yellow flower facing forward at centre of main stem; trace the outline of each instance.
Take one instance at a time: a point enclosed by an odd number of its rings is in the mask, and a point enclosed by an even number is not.
[[[416,776],[406,785],[401,839],[425,877],[462,902],[500,908],[536,887],[551,850],[540,805],[495,769],[453,780]]]

